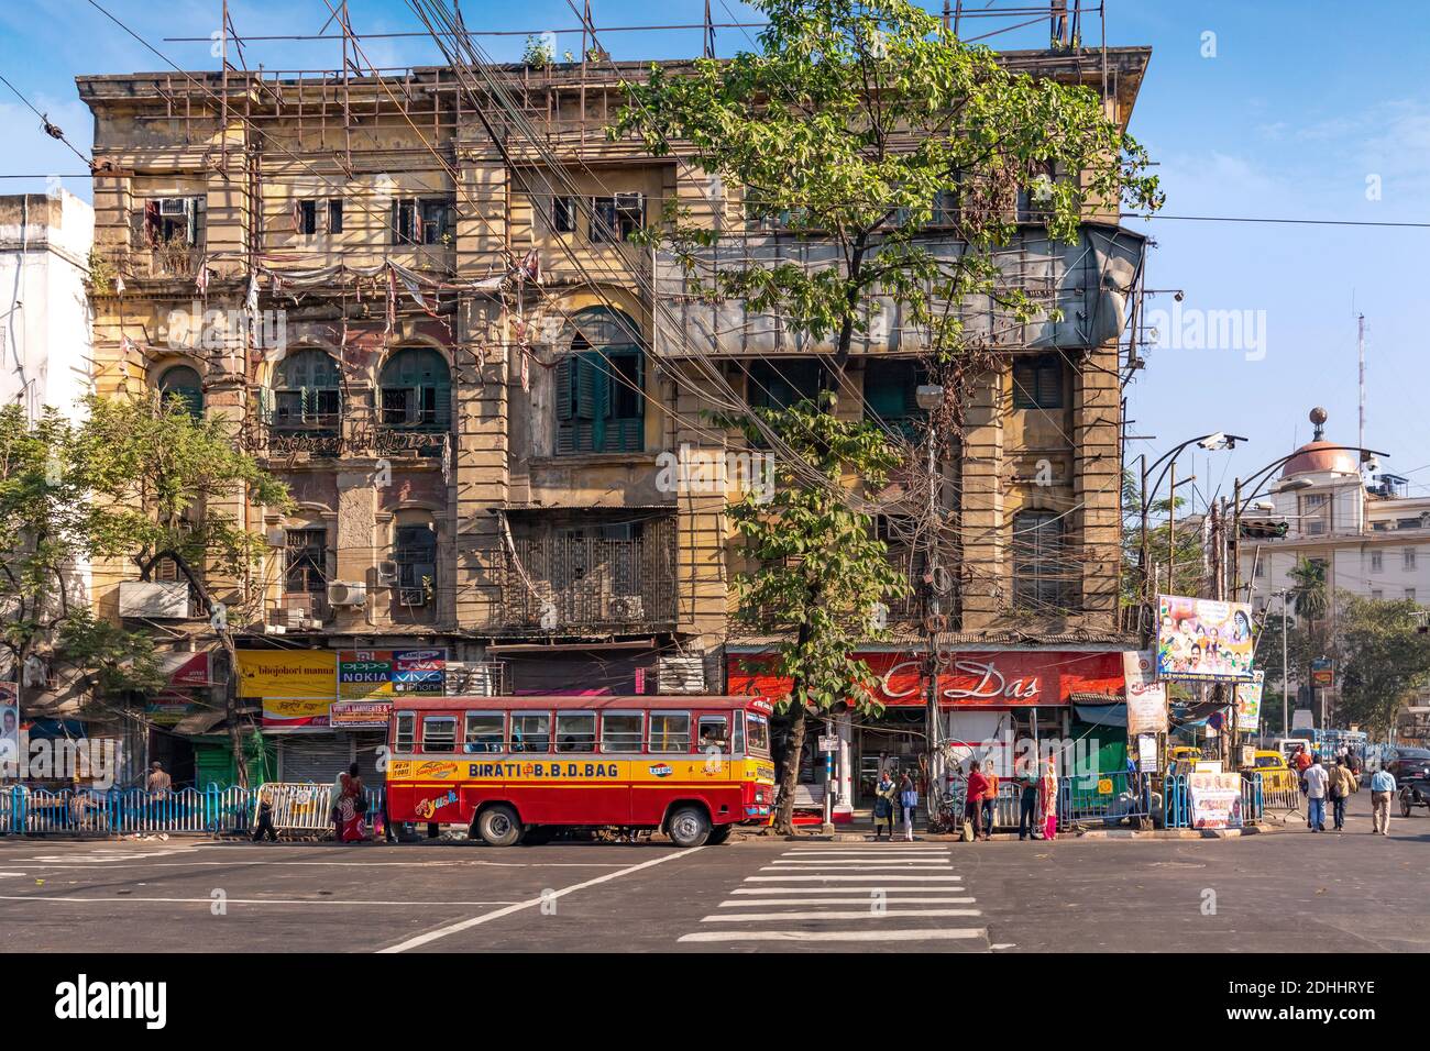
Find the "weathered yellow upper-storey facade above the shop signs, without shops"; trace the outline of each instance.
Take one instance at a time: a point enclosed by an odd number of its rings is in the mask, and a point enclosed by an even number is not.
[[[1104,83],[1077,54],[1007,60]],[[1144,49],[1113,53],[1107,107],[1123,124],[1145,61]],[[708,419],[722,405],[711,369],[749,399],[759,359],[778,373],[801,355],[746,337],[749,319],[706,337],[669,260],[621,229],[679,202],[732,240],[789,246],[744,229],[738,190],[678,156],[608,142],[609,69],[496,73],[522,120],[490,100],[473,110],[439,69],[346,87],[233,71],[80,77],[94,113],[96,247],[122,276],[94,292],[99,392],[152,390],[193,369],[203,412],[289,482],[292,513],[220,508],[272,538],[262,572],[212,582],[243,645],[443,645],[453,661],[515,662],[505,686],[516,689],[582,668],[615,669],[592,686],[631,689],[631,669],[654,655],[702,655],[719,689],[739,565],[725,495],[672,490],[659,458],[739,449]],[[592,236],[598,214],[609,239]],[[1117,629],[1117,342],[1140,255],[1115,213],[1090,216],[1081,245],[1048,245],[1028,223],[1008,247],[1012,279],[1070,307],[1068,320],[1002,340],[1007,367],[978,379],[961,455],[942,465],[961,551],[948,629]],[[565,362],[601,349],[592,326],[622,363],[586,420],[583,393],[563,383],[589,379]],[[909,359],[898,332],[857,349],[841,415],[864,415],[877,362]],[[1037,356],[1031,375],[1057,396],[1024,408],[1014,362]],[[408,363],[418,380],[399,375]],[[1071,596],[1031,612],[1015,608],[1011,553],[1028,510],[1062,523],[1055,593]],[[109,615],[133,576],[96,566]],[[362,585],[365,603],[333,602],[332,583]],[[915,601],[895,619],[922,633],[919,611]],[[596,656],[562,663],[571,653]]]

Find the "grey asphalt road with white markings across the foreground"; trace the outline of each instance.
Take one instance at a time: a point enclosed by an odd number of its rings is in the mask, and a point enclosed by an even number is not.
[[[0,839],[0,951],[1424,951],[1430,816],[1237,839]],[[1308,941],[1307,941],[1308,939]]]

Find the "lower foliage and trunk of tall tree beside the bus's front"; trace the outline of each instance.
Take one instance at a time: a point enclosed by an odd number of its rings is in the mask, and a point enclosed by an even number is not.
[[[909,583],[874,535],[872,515],[851,508],[845,479],[882,485],[899,462],[878,428],[835,419],[822,405],[756,410],[788,443],[794,459],[781,459],[774,493],[746,492],[729,505],[731,522],[745,541],[752,572],[738,573],[735,588],[744,621],[778,632],[775,673],[791,681],[775,698],[789,718],[789,752],[781,781],[775,829],[794,831],[794,792],[799,776],[807,716],[841,702],[878,711],[874,673],[851,656],[859,639],[877,636],[875,603],[902,598]],[[751,440],[761,433],[748,419],[722,419]],[[768,496],[768,499],[765,499]]]

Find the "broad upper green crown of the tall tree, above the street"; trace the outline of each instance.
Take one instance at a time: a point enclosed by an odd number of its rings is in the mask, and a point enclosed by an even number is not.
[[[745,300],[814,339],[834,336],[839,367],[868,332],[875,295],[924,330],[945,389],[968,365],[957,309],[967,296],[1035,316],[992,255],[1017,232],[1020,192],[1064,242],[1091,204],[1161,204],[1143,147],[1088,87],[1011,73],[907,0],[754,6],[768,17],[758,51],[698,60],[694,73],[652,66],[645,83],[623,84],[628,104],[609,134],[635,133],[655,156],[686,154],[741,187],[746,217],[838,249],[812,270],[722,262],[701,283],[695,263],[711,232],[668,209],[662,235],[698,292]],[[935,209],[940,237],[967,252],[930,250]]]

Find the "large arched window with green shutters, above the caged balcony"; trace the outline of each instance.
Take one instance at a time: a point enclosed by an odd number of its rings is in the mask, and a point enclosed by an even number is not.
[[[645,369],[639,329],[603,306],[575,315],[556,367],[556,452],[645,448]]]

